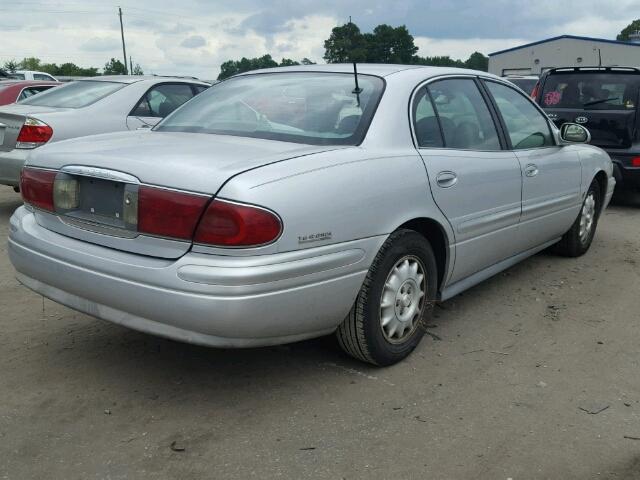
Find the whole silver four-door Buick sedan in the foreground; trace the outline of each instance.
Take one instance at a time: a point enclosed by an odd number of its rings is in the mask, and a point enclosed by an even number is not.
[[[151,131],[34,151],[10,225],[18,280],[176,340],[336,332],[389,365],[434,302],[552,245],[587,251],[615,181],[583,127],[559,131],[487,73],[352,68],[250,72]]]

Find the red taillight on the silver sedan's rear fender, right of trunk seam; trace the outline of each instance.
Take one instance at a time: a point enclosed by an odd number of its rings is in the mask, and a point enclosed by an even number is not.
[[[281,232],[280,218],[269,210],[214,200],[198,225],[194,241],[221,247],[251,247],[271,243]]]

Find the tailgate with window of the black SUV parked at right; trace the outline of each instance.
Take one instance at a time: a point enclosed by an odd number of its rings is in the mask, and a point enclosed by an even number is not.
[[[637,120],[640,72],[635,70],[561,70],[546,76],[538,103],[560,127],[583,124],[591,144],[631,147]]]

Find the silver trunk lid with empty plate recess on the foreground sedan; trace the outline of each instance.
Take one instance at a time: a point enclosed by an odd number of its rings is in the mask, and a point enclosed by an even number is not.
[[[187,198],[208,202],[226,181],[244,171],[335,148],[340,147],[141,131],[53,144],[34,151],[28,163],[57,170],[56,182],[73,185],[56,190],[63,191],[63,200],[57,201],[55,214],[38,211],[41,225],[119,250],[178,258],[189,250],[190,238],[138,232],[141,189],[187,192]],[[72,201],[66,204],[69,196]]]

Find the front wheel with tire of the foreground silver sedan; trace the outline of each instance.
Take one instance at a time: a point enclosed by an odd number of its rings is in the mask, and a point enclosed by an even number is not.
[[[555,245],[556,253],[565,257],[579,257],[589,250],[596,233],[601,202],[600,186],[594,180],[587,190],[578,217]]]

